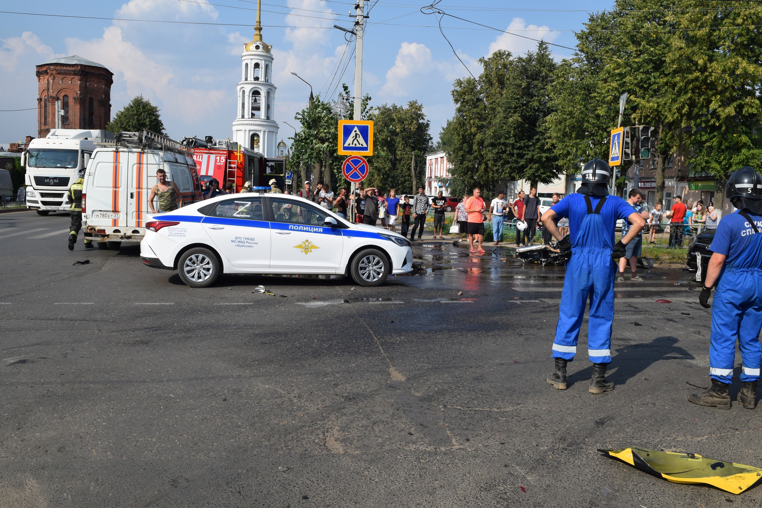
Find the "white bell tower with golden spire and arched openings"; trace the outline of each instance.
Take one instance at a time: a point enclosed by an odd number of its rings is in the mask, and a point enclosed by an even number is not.
[[[262,40],[261,7],[257,0],[254,39],[244,44],[241,54],[241,81],[232,123],[233,141],[265,157],[277,157],[278,124],[274,120],[275,85],[272,46]]]

